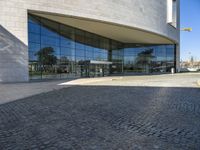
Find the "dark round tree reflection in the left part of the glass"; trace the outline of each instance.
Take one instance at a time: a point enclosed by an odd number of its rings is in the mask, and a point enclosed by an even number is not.
[[[56,64],[57,58],[53,53],[54,49],[52,47],[44,47],[35,54],[38,57],[38,63],[43,67],[44,71],[46,71],[46,66]]]

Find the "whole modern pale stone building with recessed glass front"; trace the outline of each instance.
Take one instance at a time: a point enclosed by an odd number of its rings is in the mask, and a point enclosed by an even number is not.
[[[0,82],[179,70],[179,0],[1,0]]]

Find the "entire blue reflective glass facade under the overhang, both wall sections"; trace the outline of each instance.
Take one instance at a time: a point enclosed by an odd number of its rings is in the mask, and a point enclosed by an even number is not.
[[[29,15],[30,79],[169,72],[174,45],[125,44]]]

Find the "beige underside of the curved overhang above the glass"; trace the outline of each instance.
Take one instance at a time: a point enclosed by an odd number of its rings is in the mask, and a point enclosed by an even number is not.
[[[175,41],[145,30],[114,24],[110,22],[103,22],[92,20],[88,18],[66,16],[54,13],[29,11],[40,17],[44,17],[65,25],[69,25],[81,30],[101,35],[123,43],[144,43],[144,44],[174,44]]]

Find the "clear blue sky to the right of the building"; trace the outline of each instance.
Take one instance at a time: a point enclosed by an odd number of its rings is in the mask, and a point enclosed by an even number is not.
[[[192,27],[192,32],[181,31],[181,59],[191,56],[200,60],[200,0],[181,1],[181,28]]]

